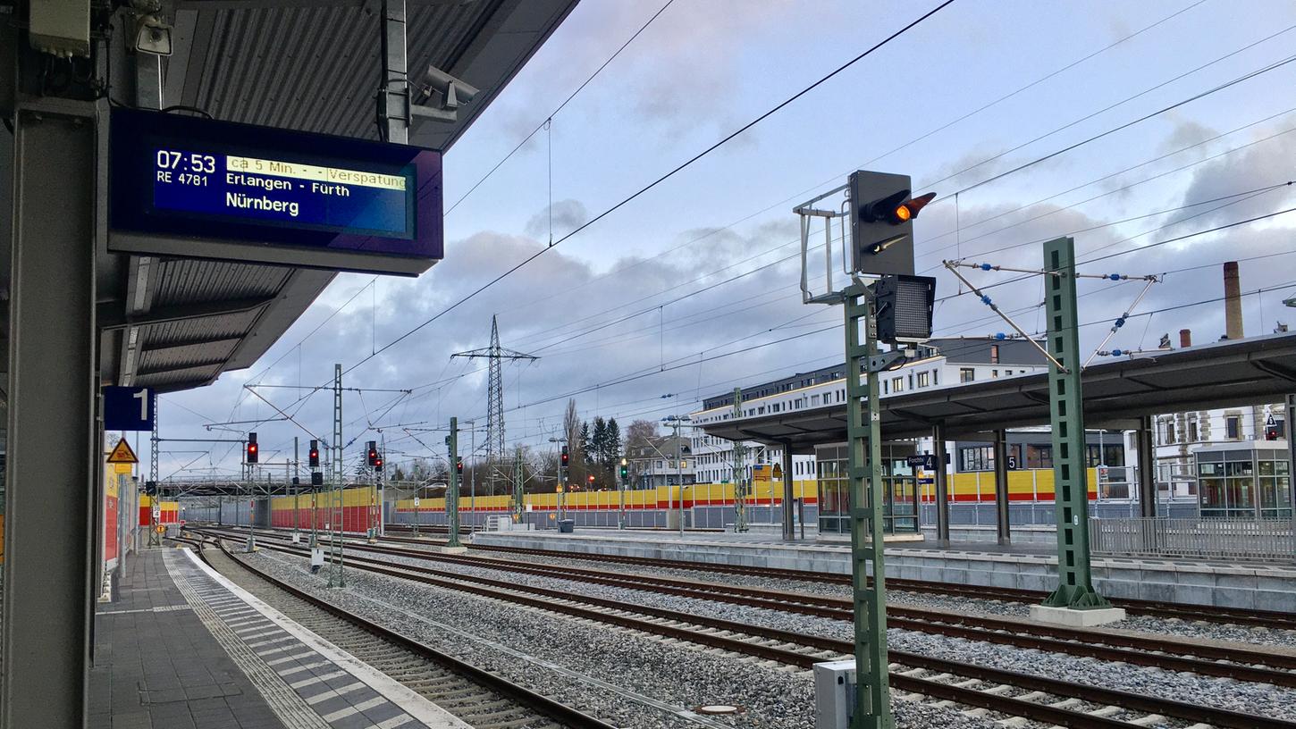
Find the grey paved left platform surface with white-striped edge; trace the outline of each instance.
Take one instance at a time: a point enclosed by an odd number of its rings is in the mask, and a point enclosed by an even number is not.
[[[464,729],[180,549],[96,611],[92,729]]]

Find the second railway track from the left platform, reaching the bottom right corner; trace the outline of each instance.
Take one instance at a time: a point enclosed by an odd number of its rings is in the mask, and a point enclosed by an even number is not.
[[[263,545],[263,549],[303,557],[293,546]],[[614,625],[618,629],[687,641],[739,655],[749,655],[798,668],[846,656],[853,644],[836,638],[749,625],[717,618],[623,602],[569,596],[557,590],[520,587],[500,580],[469,580],[465,575],[429,575],[428,570],[391,565],[368,557],[350,557],[353,570],[454,589],[478,597],[503,600],[537,610]],[[889,676],[897,697],[906,701],[949,701],[968,712],[984,710],[1055,726],[1078,729],[1175,725],[1194,728],[1296,729],[1296,723],[1260,717],[1214,707],[1175,702],[1073,681],[972,666],[905,651],[890,651]]]

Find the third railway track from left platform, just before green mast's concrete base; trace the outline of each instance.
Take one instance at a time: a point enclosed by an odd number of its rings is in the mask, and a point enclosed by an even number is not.
[[[273,537],[281,540],[281,537]],[[584,581],[614,588],[666,593],[695,600],[727,602],[750,607],[761,607],[780,612],[794,612],[851,622],[853,607],[849,600],[788,593],[759,588],[746,588],[714,583],[697,583],[660,575],[608,574],[595,570],[538,565],[534,562],[509,562],[481,557],[434,554],[416,549],[402,549],[371,544],[347,544],[354,553],[388,554],[408,557],[429,562],[464,565],[476,568],[500,570],[503,572],[550,576],[555,579]],[[354,557],[349,558],[354,559]],[[386,565],[393,565],[388,562]],[[434,570],[410,565],[394,565],[408,571],[437,578],[470,581],[491,587],[511,587],[507,580],[494,580],[461,572]],[[562,597],[566,593],[533,588],[538,594]],[[586,602],[603,606],[616,606],[616,601],[601,601],[582,597]],[[936,633],[972,641],[1011,645],[1023,650],[1034,649],[1047,653],[1068,654],[1100,660],[1120,660],[1137,666],[1150,666],[1165,671],[1191,672],[1203,676],[1230,677],[1240,681],[1271,684],[1296,688],[1296,656],[1240,647],[1218,647],[1187,641],[1174,641],[1164,637],[1140,637],[1098,631],[1070,629],[1056,625],[1041,625],[1021,620],[1007,620],[978,615],[955,615],[918,607],[888,606],[888,625],[923,633]]]

